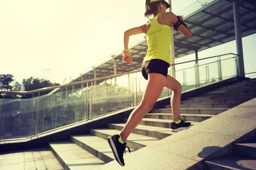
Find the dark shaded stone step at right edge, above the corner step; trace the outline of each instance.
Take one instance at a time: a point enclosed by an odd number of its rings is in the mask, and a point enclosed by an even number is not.
[[[233,152],[239,156],[256,159],[256,140],[247,143],[233,144]]]

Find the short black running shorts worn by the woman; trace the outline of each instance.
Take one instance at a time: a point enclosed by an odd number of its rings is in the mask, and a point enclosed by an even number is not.
[[[150,73],[162,74],[167,78],[169,67],[170,64],[162,59],[151,59],[142,63],[141,73],[146,80]]]

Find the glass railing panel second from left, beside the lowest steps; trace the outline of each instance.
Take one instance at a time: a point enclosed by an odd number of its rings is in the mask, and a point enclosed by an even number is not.
[[[86,86],[60,88],[53,94],[36,97],[36,101],[36,133],[86,120]]]

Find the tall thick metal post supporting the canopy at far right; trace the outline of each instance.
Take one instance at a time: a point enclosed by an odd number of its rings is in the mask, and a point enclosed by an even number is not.
[[[235,34],[236,34],[236,51],[237,51],[237,54],[238,54],[238,60],[237,60],[238,61],[237,70],[238,70],[238,73],[239,73],[238,76],[245,77],[239,0],[233,0],[233,13],[234,13],[234,25],[235,25]]]

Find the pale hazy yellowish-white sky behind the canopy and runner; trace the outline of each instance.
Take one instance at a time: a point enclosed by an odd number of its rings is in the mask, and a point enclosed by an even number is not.
[[[172,11],[177,14],[191,4],[195,11],[201,6],[195,1],[172,0]],[[186,9],[185,16],[191,13]],[[12,74],[18,82],[31,76],[60,84],[76,78],[119,54],[124,31],[147,22],[144,12],[145,0],[0,0],[0,74]],[[143,36],[130,37],[129,46]],[[242,41],[245,72],[254,72],[256,34]],[[226,53],[236,54],[235,41],[201,51],[198,57]],[[192,59],[195,54],[175,62]]]

